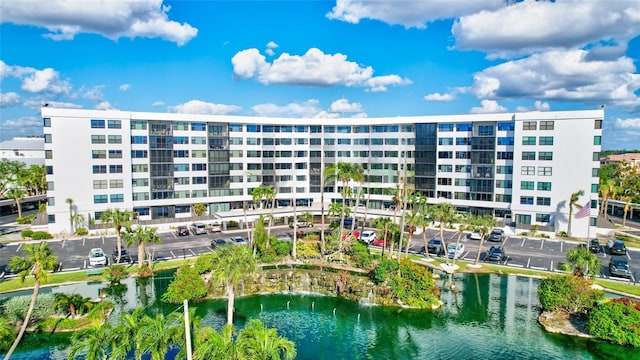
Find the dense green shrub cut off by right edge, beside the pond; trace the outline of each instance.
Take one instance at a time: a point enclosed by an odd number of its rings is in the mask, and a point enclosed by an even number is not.
[[[616,299],[598,304],[587,320],[587,331],[619,345],[640,347],[640,303]]]

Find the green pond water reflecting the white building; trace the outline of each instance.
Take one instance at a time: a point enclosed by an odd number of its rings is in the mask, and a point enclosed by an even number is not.
[[[167,276],[129,293],[149,304]],[[236,325],[258,318],[296,343],[297,359],[640,359],[640,350],[547,334],[537,322],[537,280],[456,275],[457,292],[443,291],[441,309],[418,311],[363,306],[332,297],[275,294],[236,301]],[[135,306],[120,297],[117,309]],[[220,328],[226,301],[192,304],[203,324]],[[165,312],[175,307],[162,305]],[[65,337],[29,336],[12,359],[64,359]],[[168,358],[172,358],[168,357]]]

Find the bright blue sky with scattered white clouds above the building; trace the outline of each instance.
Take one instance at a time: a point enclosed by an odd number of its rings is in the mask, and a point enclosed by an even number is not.
[[[640,148],[640,1],[0,2],[0,140],[39,108],[303,118],[599,109]]]

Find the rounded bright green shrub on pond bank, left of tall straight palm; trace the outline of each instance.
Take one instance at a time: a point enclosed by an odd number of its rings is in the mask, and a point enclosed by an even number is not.
[[[195,268],[182,265],[175,274],[175,278],[167,291],[162,294],[162,301],[180,304],[183,300],[198,301],[207,295],[207,286],[204,279]]]

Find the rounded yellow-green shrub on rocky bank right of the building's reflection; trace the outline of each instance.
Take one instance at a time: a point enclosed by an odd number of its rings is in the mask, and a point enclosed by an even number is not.
[[[546,311],[586,313],[604,298],[604,292],[592,289],[591,284],[591,280],[573,275],[542,279],[538,285],[540,305]]]

